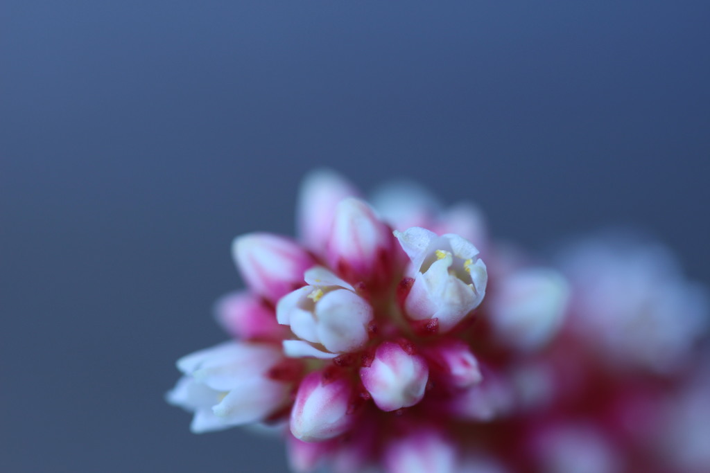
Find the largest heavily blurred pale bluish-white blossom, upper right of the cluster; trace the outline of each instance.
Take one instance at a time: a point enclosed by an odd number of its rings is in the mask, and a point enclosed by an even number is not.
[[[573,286],[569,331],[615,369],[673,372],[707,333],[708,292],[665,247],[608,235],[574,245],[562,267]]]

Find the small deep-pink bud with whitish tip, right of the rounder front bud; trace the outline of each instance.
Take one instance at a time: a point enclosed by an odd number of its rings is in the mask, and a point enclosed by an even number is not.
[[[460,340],[445,340],[427,349],[426,354],[437,365],[437,374],[451,386],[467,388],[483,379],[476,357]]]

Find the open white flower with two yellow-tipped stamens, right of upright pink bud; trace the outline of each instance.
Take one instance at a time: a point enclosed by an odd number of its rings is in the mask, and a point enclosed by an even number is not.
[[[410,318],[437,318],[446,332],[481,304],[488,274],[469,241],[418,227],[395,231],[395,236],[411,260],[408,274],[414,283],[404,303]]]

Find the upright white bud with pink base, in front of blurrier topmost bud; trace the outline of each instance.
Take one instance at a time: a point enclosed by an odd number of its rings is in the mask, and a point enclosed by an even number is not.
[[[359,199],[340,201],[327,245],[328,262],[349,282],[381,282],[391,273],[392,233]]]

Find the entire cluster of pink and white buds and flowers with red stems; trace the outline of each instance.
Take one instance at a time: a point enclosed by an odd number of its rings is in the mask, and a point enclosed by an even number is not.
[[[710,471],[706,296],[661,247],[597,238],[552,269],[475,206],[368,204],[327,171],[298,223],[234,240],[233,340],[168,393],[195,433],[281,426],[295,472]]]

